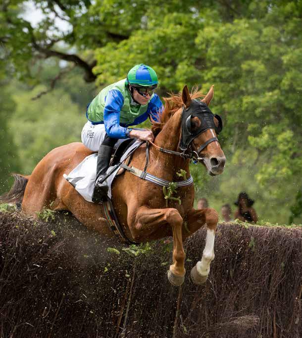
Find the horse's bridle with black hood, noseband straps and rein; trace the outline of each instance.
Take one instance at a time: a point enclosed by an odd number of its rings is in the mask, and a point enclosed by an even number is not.
[[[201,126],[198,127],[196,131],[191,130],[191,118],[197,116],[201,121]],[[218,119],[218,127],[214,123],[214,117]],[[153,142],[150,142],[152,146],[154,146],[158,151],[163,153],[172,154],[176,156],[180,156],[183,159],[191,159],[194,163],[197,163],[200,160],[203,160],[200,157],[200,152],[211,142],[218,141],[217,137],[211,137],[206,140],[198,150],[193,150],[192,141],[204,132],[207,129],[214,129],[216,134],[218,135],[219,132],[222,130],[222,119],[219,115],[213,114],[208,106],[199,100],[192,100],[191,105],[186,108],[183,106],[182,109],[182,135],[181,140],[179,142],[179,148],[182,152],[177,152],[165,148],[158,147]]]

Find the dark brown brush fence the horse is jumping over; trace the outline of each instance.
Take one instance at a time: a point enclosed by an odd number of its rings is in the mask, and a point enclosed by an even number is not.
[[[301,234],[220,224],[209,279],[198,286],[190,270],[201,229],[185,242],[186,279],[175,287],[171,243],[127,247],[70,215],[0,213],[0,337],[301,337]]]

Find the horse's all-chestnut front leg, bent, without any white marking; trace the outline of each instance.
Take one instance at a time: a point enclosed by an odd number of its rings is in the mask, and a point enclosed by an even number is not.
[[[129,215],[130,216],[130,215]],[[129,223],[130,221],[130,223]],[[128,217],[131,233],[135,240],[148,238],[148,234],[153,232],[158,226],[169,224],[173,233],[173,264],[170,265],[168,279],[173,285],[180,285],[185,279],[185,251],[182,240],[183,219],[179,212],[174,208],[150,209],[141,207],[135,217]],[[158,228],[158,231],[161,231]],[[164,233],[165,231],[163,231]]]

